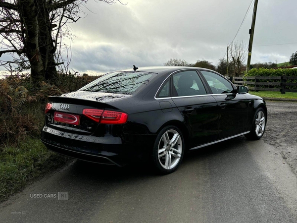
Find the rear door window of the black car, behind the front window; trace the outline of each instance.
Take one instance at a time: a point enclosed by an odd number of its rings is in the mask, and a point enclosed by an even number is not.
[[[173,95],[206,95],[205,88],[196,71],[183,71],[173,75]]]

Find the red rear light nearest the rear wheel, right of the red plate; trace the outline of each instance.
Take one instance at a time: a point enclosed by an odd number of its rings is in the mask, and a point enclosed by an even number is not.
[[[101,124],[125,124],[128,114],[119,111],[84,109],[83,114]]]

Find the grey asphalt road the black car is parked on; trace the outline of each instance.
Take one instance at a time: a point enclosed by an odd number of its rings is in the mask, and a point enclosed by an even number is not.
[[[31,198],[68,192],[68,200]],[[296,223],[297,178],[274,146],[239,137],[187,154],[179,169],[75,161],[0,206],[1,223]]]

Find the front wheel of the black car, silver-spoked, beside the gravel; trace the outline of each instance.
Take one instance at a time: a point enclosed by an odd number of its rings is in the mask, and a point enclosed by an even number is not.
[[[246,135],[248,139],[257,140],[262,138],[266,127],[266,115],[262,108],[257,109],[253,117],[251,130]]]

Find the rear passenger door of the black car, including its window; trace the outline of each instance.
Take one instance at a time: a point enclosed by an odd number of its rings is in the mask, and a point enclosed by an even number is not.
[[[172,75],[172,101],[184,116],[192,147],[219,137],[217,103],[204,85],[196,70]]]

